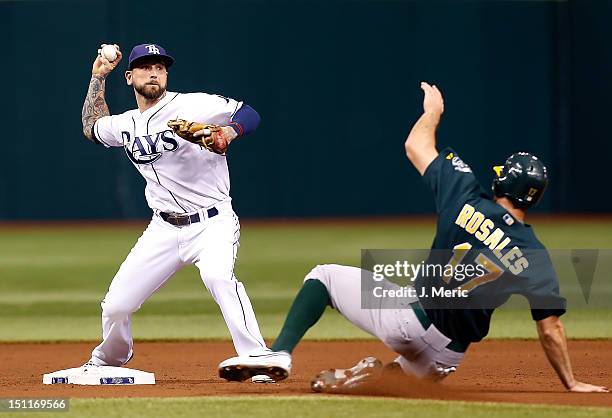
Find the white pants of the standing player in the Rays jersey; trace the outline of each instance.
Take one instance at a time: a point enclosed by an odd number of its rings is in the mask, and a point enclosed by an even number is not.
[[[179,269],[195,264],[204,285],[221,308],[238,355],[266,348],[244,286],[234,275],[240,223],[231,204],[219,214],[176,227],[153,215],[121,264],[102,301],[103,341],[92,352],[98,365],[122,366],[132,357],[132,314]]]

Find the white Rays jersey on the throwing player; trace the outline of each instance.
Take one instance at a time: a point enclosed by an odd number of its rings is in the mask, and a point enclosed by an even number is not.
[[[147,181],[151,209],[192,213],[231,200],[226,157],[175,135],[170,119],[228,125],[242,102],[206,93],[166,92],[150,109],[128,110],[95,123],[94,134],[105,147],[123,147]]]

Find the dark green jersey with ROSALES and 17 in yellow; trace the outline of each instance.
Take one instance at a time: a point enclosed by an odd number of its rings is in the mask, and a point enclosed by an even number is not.
[[[546,248],[530,225],[491,200],[455,151],[440,152],[423,179],[438,214],[427,265],[443,268],[419,275],[415,288],[436,328],[466,345],[480,341],[513,294],[527,298],[534,320],[565,313]]]

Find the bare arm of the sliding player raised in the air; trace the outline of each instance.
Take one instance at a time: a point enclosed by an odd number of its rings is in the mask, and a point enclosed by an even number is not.
[[[406,155],[421,175],[438,156],[436,150],[436,129],[444,113],[444,98],[436,85],[430,86],[422,82],[421,89],[425,93],[423,98],[423,115],[412,127],[410,135],[406,138]]]

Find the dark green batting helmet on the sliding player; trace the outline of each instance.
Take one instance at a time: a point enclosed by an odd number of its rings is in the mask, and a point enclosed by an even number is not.
[[[528,152],[512,154],[502,166],[493,167],[493,193],[507,197],[517,207],[527,209],[540,200],[548,184],[546,166]]]

